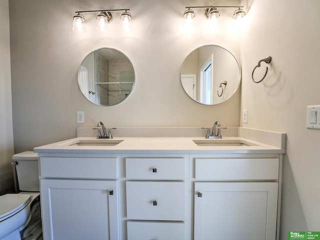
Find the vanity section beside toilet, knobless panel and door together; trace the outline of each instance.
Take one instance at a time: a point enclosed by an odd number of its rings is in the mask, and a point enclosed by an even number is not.
[[[45,240],[119,239],[118,156],[40,156]]]

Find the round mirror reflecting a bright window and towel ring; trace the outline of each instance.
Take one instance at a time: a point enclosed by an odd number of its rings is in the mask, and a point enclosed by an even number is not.
[[[213,105],[230,98],[240,84],[235,57],[217,45],[200,46],[185,58],[181,69],[184,91],[193,100]]]

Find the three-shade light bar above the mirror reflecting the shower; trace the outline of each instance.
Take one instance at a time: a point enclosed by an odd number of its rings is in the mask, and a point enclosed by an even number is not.
[[[130,9],[105,9],[105,10],[91,10],[91,11],[76,11],[76,15],[73,16],[73,26],[72,30],[74,32],[85,32],[85,19],[82,13],[91,13],[91,12],[98,12],[96,16],[96,27],[98,31],[107,31],[107,24],[112,21],[112,14],[113,11],[123,11],[121,13],[120,19],[121,22],[125,22],[126,25],[131,21],[131,14],[128,12]]]

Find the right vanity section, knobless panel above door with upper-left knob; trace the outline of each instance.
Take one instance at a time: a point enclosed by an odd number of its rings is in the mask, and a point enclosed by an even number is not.
[[[279,156],[197,155],[194,240],[275,240]]]

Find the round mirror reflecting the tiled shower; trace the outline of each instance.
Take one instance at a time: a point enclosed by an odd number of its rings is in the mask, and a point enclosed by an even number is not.
[[[114,105],[124,100],[133,87],[133,66],[122,52],[99,48],[82,61],[78,83],[83,95],[91,102]]]

